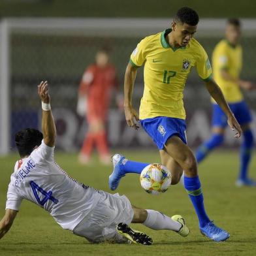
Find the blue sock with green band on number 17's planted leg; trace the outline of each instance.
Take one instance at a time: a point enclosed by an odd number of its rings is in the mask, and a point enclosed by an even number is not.
[[[204,227],[210,221],[210,219],[204,210],[204,197],[202,196],[199,176],[195,176],[193,178],[184,176],[184,186],[189,194],[190,200],[193,203],[195,211],[197,212],[199,226]]]

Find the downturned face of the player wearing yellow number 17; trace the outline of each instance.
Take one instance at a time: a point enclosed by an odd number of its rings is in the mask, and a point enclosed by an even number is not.
[[[176,44],[186,46],[197,31],[197,25],[172,22],[172,32]]]

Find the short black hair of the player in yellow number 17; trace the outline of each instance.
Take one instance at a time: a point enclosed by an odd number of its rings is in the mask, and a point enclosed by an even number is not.
[[[189,7],[182,7],[175,14],[174,21],[182,22],[182,24],[197,25],[199,23],[199,15]]]

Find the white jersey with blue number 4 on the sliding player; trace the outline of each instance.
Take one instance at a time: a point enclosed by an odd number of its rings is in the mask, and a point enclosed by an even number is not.
[[[6,209],[19,210],[22,199],[35,202],[63,227],[73,230],[99,202],[101,191],[78,183],[54,161],[44,140],[29,157],[16,162],[10,176]]]

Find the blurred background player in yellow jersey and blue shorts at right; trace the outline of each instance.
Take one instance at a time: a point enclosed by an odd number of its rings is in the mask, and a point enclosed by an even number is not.
[[[253,133],[249,127],[251,113],[240,88],[253,89],[255,85],[251,82],[240,80],[242,68],[242,47],[238,44],[240,38],[240,21],[230,19],[227,22],[226,38],[221,40],[212,56],[214,80],[221,88],[226,101],[234,112],[234,116],[240,123],[243,131],[243,142],[240,150],[240,172],[237,185],[256,186],[256,182],[248,178],[248,167],[253,148]],[[204,142],[197,150],[197,162],[200,163],[208,153],[221,145],[224,140],[224,131],[227,126],[225,113],[216,101],[213,101],[212,136]]]

